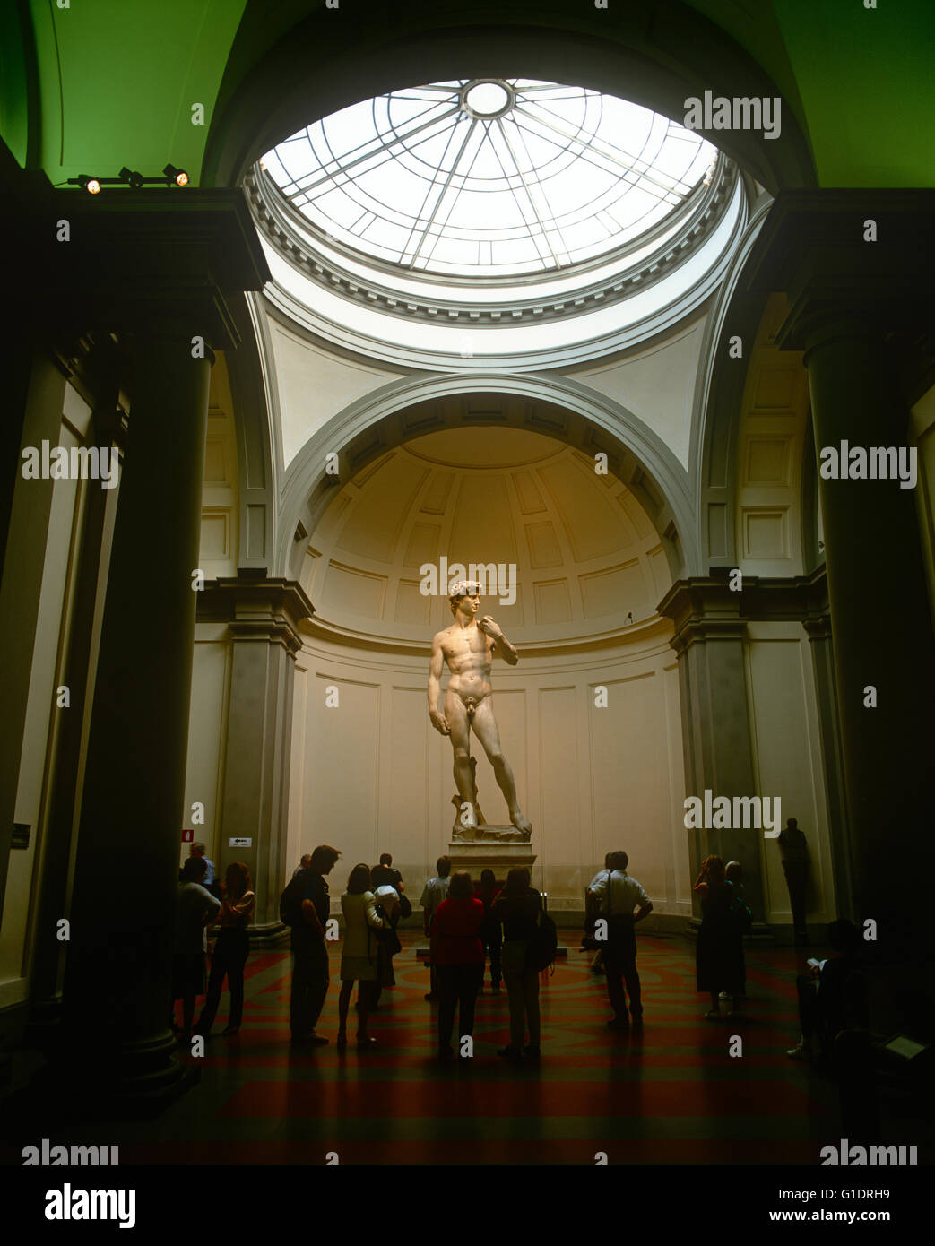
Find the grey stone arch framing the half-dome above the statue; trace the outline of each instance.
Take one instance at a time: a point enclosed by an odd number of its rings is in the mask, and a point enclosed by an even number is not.
[[[434,399],[451,395],[506,400],[496,412],[461,412],[455,426],[527,427],[587,455],[606,454],[610,471],[633,492],[659,533],[673,579],[694,573],[688,476],[661,437],[620,402],[576,381],[490,373],[394,381],[328,420],[305,442],[283,480],[278,574],[295,578],[302,532],[314,530],[338,481],[349,480],[394,445],[453,426],[451,416],[433,410]],[[337,476],[324,470],[329,452],[338,455]]]

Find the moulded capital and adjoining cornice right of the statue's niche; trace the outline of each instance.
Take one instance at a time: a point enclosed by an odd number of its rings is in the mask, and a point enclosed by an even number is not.
[[[828,617],[824,567],[810,576],[744,576],[742,583],[734,591],[726,577],[676,581],[656,607],[674,623],[669,644],[676,653],[697,640],[742,640],[752,621],[800,622],[810,635],[810,624]]]

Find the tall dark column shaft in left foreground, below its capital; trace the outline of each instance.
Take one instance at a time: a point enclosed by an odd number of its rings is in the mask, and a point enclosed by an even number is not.
[[[59,1073],[156,1100],[168,1029],[207,427],[208,359],[137,338],[85,764]]]

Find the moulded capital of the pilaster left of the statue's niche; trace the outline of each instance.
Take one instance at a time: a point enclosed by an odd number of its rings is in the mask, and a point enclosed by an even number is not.
[[[302,648],[299,622],[315,608],[295,579],[267,578],[262,571],[208,579],[198,593],[198,622],[226,622],[233,640],[282,644],[294,657]]]

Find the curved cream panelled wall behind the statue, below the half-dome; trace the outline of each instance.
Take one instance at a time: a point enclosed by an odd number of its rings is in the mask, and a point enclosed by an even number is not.
[[[668,634],[658,623],[630,645],[565,657],[521,653],[514,669],[495,663],[500,736],[534,825],[534,882],[554,908],[580,908],[605,852],[622,847],[658,912],[691,911]],[[365,652],[315,635],[297,665],[307,690],[293,720],[289,861],[322,842],[340,849],[332,885],[339,896],[352,866],[391,852],[418,898],[448,851],[455,790],[451,745],[428,718],[428,652]],[[595,708],[598,684],[607,688],[606,709]],[[329,688],[339,699],[332,709]],[[484,815],[507,822],[486,756],[472,751]],[[300,844],[293,842],[298,829]]]

